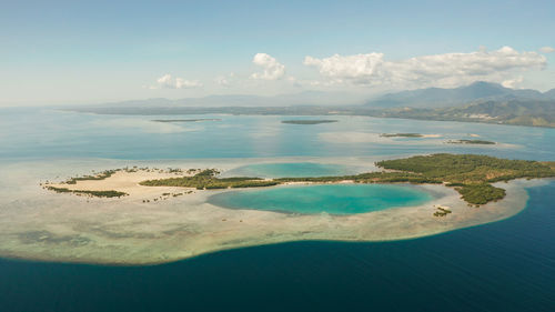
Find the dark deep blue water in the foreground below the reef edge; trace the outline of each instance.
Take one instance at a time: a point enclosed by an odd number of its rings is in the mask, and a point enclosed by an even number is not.
[[[528,192],[514,218],[417,240],[138,268],[0,260],[0,311],[555,311],[555,182]]]

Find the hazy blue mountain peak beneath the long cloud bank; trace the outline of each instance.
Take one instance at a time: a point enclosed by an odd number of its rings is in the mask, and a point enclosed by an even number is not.
[[[454,89],[427,88],[387,93],[370,100],[366,104],[374,108],[445,108],[477,100],[509,99],[546,100],[549,98],[536,90],[515,90],[497,83],[477,81]]]

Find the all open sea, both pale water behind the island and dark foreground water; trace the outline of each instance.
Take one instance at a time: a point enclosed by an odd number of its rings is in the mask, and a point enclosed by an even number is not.
[[[198,117],[1,109],[0,162],[433,152],[555,160],[555,130],[544,128],[364,117],[315,125],[281,123],[289,117],[151,121],[163,118]],[[443,137],[377,137],[391,132]],[[476,135],[501,144],[444,143]],[[408,241],[294,242],[135,268],[0,259],[0,311],[555,311],[555,182],[528,193],[511,219]]]

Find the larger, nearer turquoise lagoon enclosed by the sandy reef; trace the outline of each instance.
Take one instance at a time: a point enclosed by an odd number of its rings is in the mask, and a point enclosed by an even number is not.
[[[432,199],[432,194],[408,185],[331,184],[231,191],[214,194],[208,201],[231,209],[353,214],[418,205]]]

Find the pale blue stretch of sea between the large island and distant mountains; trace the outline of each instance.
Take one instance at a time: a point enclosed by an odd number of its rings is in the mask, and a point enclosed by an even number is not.
[[[2,159],[205,159],[369,157],[415,153],[481,153],[555,159],[555,129],[483,123],[334,117],[339,122],[284,124],[279,115],[202,115],[205,122],[154,122],[199,115],[95,115],[51,109],[0,110]],[[321,117],[311,117],[322,119]],[[438,139],[380,139],[377,133],[442,134]],[[505,145],[446,144],[480,139]]]

